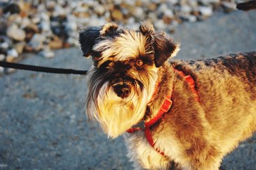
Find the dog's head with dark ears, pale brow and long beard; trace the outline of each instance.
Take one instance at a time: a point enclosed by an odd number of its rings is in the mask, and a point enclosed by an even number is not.
[[[111,137],[140,121],[154,92],[157,71],[175,56],[179,45],[155,33],[148,22],[138,31],[110,22],[88,27],[79,35],[84,56],[92,56],[86,112]]]

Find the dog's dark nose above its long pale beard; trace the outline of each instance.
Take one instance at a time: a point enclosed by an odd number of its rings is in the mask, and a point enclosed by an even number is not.
[[[111,82],[111,86],[113,87],[116,95],[120,98],[129,97],[131,93],[131,82],[124,79],[115,79]]]

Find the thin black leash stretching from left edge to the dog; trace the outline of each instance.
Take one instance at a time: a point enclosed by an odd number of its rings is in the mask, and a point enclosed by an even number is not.
[[[0,66],[4,68],[15,68],[19,70],[29,70],[33,72],[44,72],[44,73],[79,74],[79,75],[86,75],[87,73],[87,70],[73,70],[73,69],[67,69],[67,68],[51,68],[46,66],[23,65],[19,63],[9,63],[6,61],[0,61]]]

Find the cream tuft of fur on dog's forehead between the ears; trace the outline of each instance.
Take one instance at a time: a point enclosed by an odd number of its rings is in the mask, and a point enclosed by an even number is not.
[[[100,52],[99,65],[107,60],[125,61],[136,59],[138,56],[149,54],[150,45],[147,43],[147,36],[140,31],[124,30],[115,37],[104,37],[93,47],[93,50]]]

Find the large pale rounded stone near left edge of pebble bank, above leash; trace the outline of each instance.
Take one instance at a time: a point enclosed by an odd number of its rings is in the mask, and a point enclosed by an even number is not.
[[[12,24],[10,27],[8,27],[7,35],[13,40],[17,40],[17,41],[24,41],[26,38],[25,31],[22,29],[19,29],[19,27],[16,24]]]

